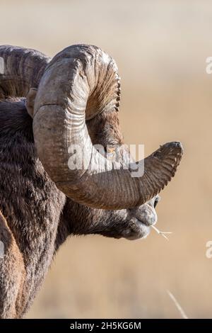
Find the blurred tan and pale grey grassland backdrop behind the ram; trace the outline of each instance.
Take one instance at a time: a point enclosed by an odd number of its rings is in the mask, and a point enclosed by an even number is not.
[[[0,43],[55,55],[74,43],[102,47],[122,77],[125,141],[146,154],[180,140],[184,158],[161,193],[158,228],[136,242],[71,238],[59,251],[28,317],[212,317],[211,1],[0,2]]]

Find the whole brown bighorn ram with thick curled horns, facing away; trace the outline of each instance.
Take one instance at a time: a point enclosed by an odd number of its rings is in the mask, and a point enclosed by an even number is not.
[[[161,146],[139,177],[133,162],[116,169],[95,149],[122,145],[117,66],[98,47],[73,45],[51,60],[4,45],[0,57],[0,317],[20,318],[69,235],[148,235],[182,145]],[[90,167],[69,167],[71,145]]]

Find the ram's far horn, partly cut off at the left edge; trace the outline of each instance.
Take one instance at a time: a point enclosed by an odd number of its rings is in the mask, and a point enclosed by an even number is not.
[[[0,46],[0,99],[25,97],[30,88],[37,88],[50,58],[41,52],[23,47]]]

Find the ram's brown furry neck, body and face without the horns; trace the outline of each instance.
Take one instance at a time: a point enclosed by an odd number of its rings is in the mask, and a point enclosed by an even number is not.
[[[0,101],[0,317],[23,317],[54,253],[69,235],[135,239],[155,222],[154,201],[135,210],[98,210],[61,193],[37,158],[25,99]],[[122,142],[117,112],[88,122],[93,143]],[[3,215],[2,215],[3,214]]]

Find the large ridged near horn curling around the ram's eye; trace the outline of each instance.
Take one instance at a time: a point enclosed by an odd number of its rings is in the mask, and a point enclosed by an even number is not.
[[[114,111],[118,101],[117,66],[95,46],[67,47],[49,62],[40,81],[33,119],[37,154],[57,187],[78,203],[105,209],[142,205],[175,175],[182,157],[179,142],[147,157],[143,176],[135,178],[134,165],[118,169],[93,147],[86,119]],[[76,161],[83,156],[81,168],[69,168],[73,153]]]

